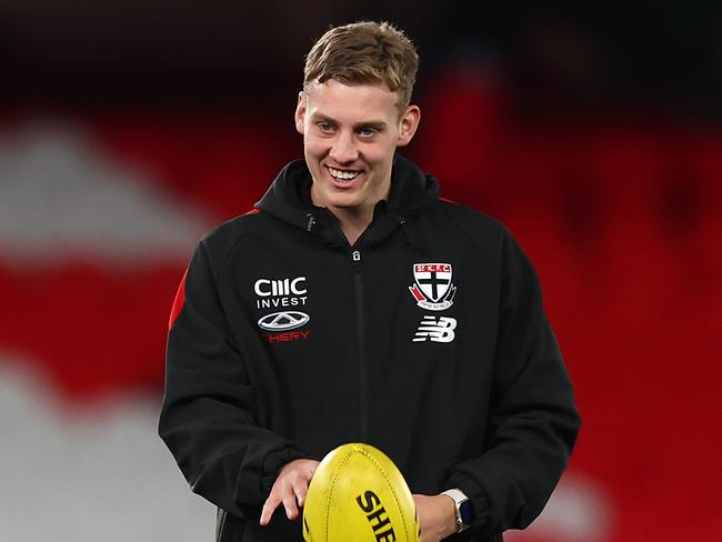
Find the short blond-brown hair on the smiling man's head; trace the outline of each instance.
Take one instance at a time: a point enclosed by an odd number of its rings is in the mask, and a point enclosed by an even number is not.
[[[419,56],[405,34],[388,22],[361,21],[327,31],[305,58],[303,90],[334,79],[345,84],[385,83],[403,113],[411,101]]]

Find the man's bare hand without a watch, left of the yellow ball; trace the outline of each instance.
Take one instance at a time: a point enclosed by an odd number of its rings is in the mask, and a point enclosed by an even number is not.
[[[283,503],[289,520],[295,520],[299,516],[299,506],[303,506],[309,482],[318,465],[319,462],[311,459],[297,459],[283,465],[273,482],[269,498],[263,503],[261,525],[268,525],[273,512],[281,503]]]

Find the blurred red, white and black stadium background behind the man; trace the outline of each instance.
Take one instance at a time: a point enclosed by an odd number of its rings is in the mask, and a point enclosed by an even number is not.
[[[0,540],[213,539],[156,436],[170,305],[359,19],[418,44],[403,152],[522,243],[575,384],[570,469],[509,540],[719,540],[722,3],[539,3],[0,2]]]

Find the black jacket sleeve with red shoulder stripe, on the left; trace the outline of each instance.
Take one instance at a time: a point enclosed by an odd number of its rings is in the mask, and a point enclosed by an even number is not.
[[[257,423],[255,393],[204,242],[181,281],[169,325],[159,434],[193,492],[241,518],[258,514],[280,468],[308,454]]]

